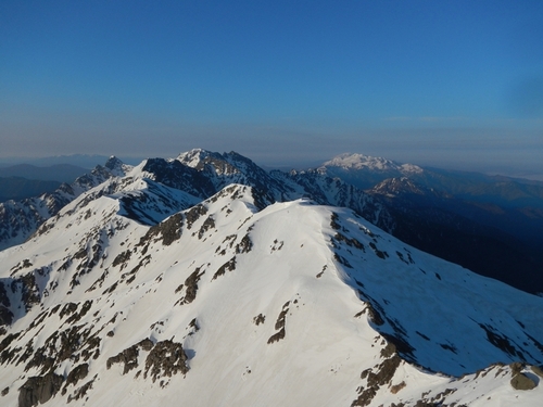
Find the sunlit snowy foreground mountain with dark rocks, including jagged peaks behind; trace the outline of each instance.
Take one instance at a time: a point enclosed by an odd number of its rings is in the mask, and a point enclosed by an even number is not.
[[[244,160],[148,160],[0,252],[2,406],[541,404],[543,298]]]

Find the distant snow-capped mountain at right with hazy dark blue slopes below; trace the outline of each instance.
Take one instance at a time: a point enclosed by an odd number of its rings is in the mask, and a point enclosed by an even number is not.
[[[363,189],[406,243],[518,289],[543,292],[543,188],[483,174],[342,154],[316,169]]]

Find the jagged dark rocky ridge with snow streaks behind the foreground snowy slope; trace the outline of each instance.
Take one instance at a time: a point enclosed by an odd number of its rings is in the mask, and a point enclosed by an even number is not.
[[[109,182],[103,183],[106,180]],[[382,205],[341,180],[325,175],[293,177],[280,171],[268,174],[238,153],[219,154],[195,149],[175,160],[149,158],[138,166],[126,165],[112,156],[105,166],[97,166],[89,175],[77,178],[71,186],[62,185],[51,194],[0,203],[0,250],[24,242],[64,205],[99,185],[100,188],[87,195],[87,200],[127,191],[122,199],[125,214],[143,224],[154,225],[187,207],[187,203],[194,199],[206,199],[233,182],[253,187],[260,207],[312,195],[321,204],[352,207],[386,230],[393,227]],[[188,198],[189,202],[181,199],[179,203],[176,198],[178,191],[192,198]],[[151,216],[149,212],[138,209],[142,202],[153,204],[157,213]]]

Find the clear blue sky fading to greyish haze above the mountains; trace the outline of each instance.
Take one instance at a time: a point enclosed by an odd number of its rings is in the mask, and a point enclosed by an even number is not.
[[[0,157],[197,147],[543,174],[543,1],[0,1]]]

